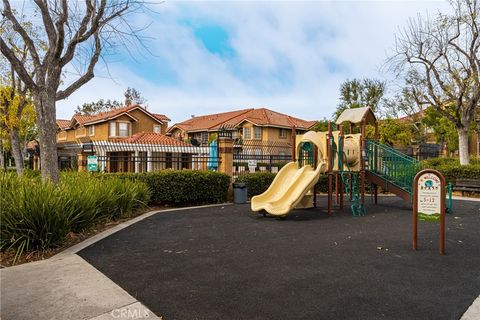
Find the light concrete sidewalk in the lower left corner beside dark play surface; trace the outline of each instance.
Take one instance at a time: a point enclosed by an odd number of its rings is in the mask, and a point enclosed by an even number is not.
[[[1,319],[159,319],[76,254],[0,270]]]

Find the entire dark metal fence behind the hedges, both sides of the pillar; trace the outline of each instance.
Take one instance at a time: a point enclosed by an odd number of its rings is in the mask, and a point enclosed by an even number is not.
[[[313,149],[306,147],[308,146],[302,147],[305,150],[300,153],[298,160],[302,164],[312,164]],[[222,162],[217,143],[200,147],[180,141],[175,145],[92,141],[79,148],[78,152],[84,155],[81,158],[76,155],[59,157],[62,168],[73,168],[76,165],[80,170],[86,170],[88,155],[96,156],[100,172],[150,172],[164,169],[217,171]],[[234,139],[228,152],[232,153],[233,179],[259,171],[277,173],[292,161],[291,141]]]

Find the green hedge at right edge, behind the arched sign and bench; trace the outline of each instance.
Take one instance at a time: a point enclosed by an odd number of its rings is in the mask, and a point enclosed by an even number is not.
[[[461,166],[458,158],[434,158],[423,161],[423,167],[440,171],[449,182],[463,178],[480,180],[480,159],[478,158],[470,159],[470,164],[467,166]]]

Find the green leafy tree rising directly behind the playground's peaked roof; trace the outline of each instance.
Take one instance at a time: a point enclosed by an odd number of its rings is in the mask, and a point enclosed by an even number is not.
[[[346,109],[370,107],[374,112],[385,94],[385,82],[376,79],[353,79],[347,80],[340,86],[340,104],[334,113],[338,119]]]

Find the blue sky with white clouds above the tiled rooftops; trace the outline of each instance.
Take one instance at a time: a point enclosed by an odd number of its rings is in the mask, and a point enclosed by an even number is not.
[[[384,63],[409,17],[448,10],[444,1],[245,1],[152,3],[131,16],[142,44],[105,57],[96,77],[57,117],[134,87],[171,124],[209,113],[266,107],[306,120],[332,117],[340,84],[388,81]],[[73,78],[67,75],[65,85]]]

